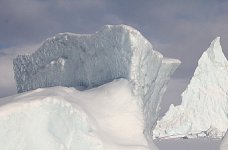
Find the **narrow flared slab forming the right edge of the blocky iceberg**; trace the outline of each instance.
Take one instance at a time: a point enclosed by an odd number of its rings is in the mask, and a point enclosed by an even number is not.
[[[151,137],[155,122],[158,119],[160,103],[166,91],[167,83],[180,62],[174,59],[163,59],[155,81],[143,98],[143,110],[146,119],[145,134]]]

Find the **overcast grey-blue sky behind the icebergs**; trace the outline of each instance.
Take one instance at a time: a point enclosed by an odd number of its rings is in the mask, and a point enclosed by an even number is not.
[[[0,0],[0,97],[15,94],[12,59],[59,32],[94,33],[105,24],[138,29],[164,56],[178,58],[162,104],[180,103],[197,61],[221,37],[228,56],[227,0]]]

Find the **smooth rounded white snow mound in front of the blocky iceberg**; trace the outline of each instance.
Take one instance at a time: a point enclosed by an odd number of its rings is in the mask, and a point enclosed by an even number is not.
[[[1,150],[157,150],[127,80],[37,89],[0,99]]]

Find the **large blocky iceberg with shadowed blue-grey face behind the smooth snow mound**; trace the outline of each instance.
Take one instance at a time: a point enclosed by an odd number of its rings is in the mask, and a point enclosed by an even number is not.
[[[92,35],[61,33],[31,55],[14,59],[19,93],[53,86],[90,89],[125,78],[145,116],[145,134],[152,132],[170,75],[180,61],[153,50],[139,31],[106,25]]]

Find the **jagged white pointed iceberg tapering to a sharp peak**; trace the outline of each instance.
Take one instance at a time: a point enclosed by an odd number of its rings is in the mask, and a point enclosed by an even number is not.
[[[182,94],[182,104],[170,106],[157,122],[154,137],[222,137],[228,128],[228,62],[220,38],[198,61],[190,84]]]

